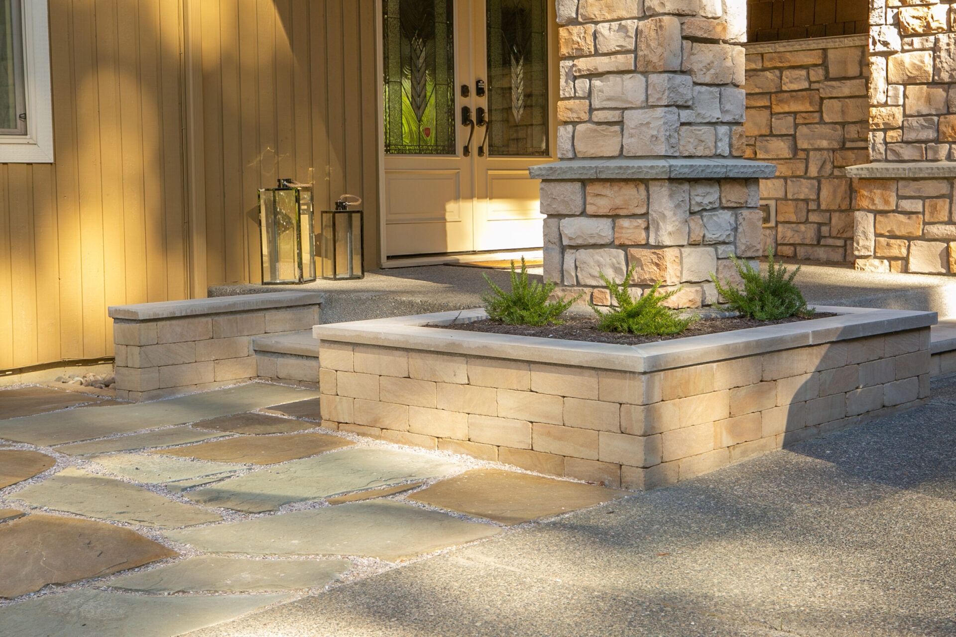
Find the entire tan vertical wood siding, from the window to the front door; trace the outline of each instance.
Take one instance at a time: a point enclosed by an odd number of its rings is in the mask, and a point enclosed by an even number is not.
[[[185,9],[200,29],[184,30]],[[56,161],[0,164],[0,371],[112,355],[106,308],[185,298],[190,254],[209,284],[259,281],[256,189],[279,177],[315,180],[318,209],[362,197],[375,265],[378,11],[380,0],[50,0]],[[187,122],[198,122],[188,146]],[[204,186],[205,245],[197,229],[192,250],[187,174]]]

